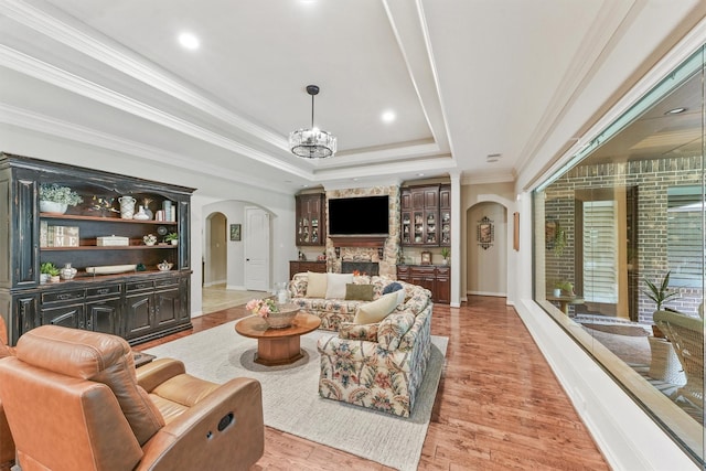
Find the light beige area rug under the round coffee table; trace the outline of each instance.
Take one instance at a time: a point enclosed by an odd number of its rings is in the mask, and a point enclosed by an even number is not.
[[[447,338],[431,336],[431,357],[417,404],[405,419],[319,396],[317,340],[331,332],[303,335],[303,358],[291,365],[267,367],[253,362],[257,341],[238,335],[234,325],[229,322],[146,353],[181,360],[190,374],[216,383],[238,376],[256,378],[263,385],[268,427],[398,470],[417,469],[443,370]]]

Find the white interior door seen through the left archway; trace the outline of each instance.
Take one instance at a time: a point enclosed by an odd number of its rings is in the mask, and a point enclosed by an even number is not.
[[[245,208],[245,289],[269,290],[269,213]]]

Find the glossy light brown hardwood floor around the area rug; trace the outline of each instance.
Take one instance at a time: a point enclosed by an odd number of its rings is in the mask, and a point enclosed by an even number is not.
[[[229,308],[193,319],[199,332],[247,315]],[[504,298],[435,304],[431,333],[449,338],[420,470],[608,470],[586,427]],[[136,350],[190,335],[181,332]],[[388,470],[266,428],[254,470]]]

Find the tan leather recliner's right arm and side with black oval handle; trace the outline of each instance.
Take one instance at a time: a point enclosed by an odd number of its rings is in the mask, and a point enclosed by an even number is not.
[[[259,382],[231,379],[158,431],[136,470],[246,470],[263,456],[263,430]]]

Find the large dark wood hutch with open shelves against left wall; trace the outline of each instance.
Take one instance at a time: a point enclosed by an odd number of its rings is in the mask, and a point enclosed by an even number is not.
[[[65,214],[40,213],[41,184],[69,186],[83,203]],[[130,344],[191,329],[190,204],[193,189],[26,157],[0,154],[0,315],[14,345],[24,332],[60,324],[120,335]],[[117,199],[129,195],[157,212],[170,202],[173,221],[121,218]],[[98,204],[101,199],[105,204]],[[111,203],[111,204],[108,204]],[[99,207],[100,206],[100,207]],[[137,207],[136,207],[137,212]],[[72,227],[78,246],[46,246],[41,226]],[[175,245],[161,238],[178,234]],[[153,246],[142,237],[154,234]],[[122,236],[125,246],[100,246]],[[172,264],[161,271],[161,261]],[[76,277],[40,282],[40,265],[71,263]],[[90,275],[87,267],[133,265],[125,272]],[[109,271],[109,269],[108,269]]]

